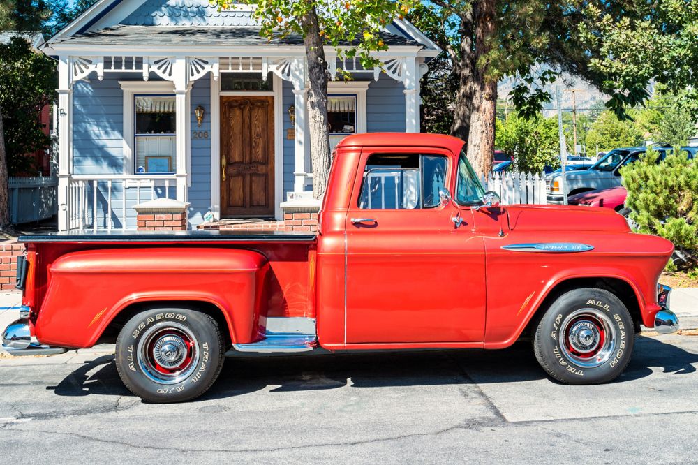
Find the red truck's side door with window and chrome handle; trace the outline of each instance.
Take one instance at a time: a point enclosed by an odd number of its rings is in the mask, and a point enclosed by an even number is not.
[[[484,338],[484,244],[439,192],[452,154],[364,147],[346,218],[346,343]]]

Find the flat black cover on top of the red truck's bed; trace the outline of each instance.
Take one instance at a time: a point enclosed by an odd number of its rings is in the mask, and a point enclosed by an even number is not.
[[[68,231],[27,235],[20,242],[315,242],[309,232],[285,231]]]

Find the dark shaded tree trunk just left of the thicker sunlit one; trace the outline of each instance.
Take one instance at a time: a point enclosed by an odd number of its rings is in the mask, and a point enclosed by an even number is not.
[[[470,133],[470,115],[473,111],[473,72],[475,71],[472,9],[461,17],[459,34],[461,35],[459,47],[461,57],[457,67],[459,86],[456,93],[456,107],[453,111],[451,135],[467,141]]]

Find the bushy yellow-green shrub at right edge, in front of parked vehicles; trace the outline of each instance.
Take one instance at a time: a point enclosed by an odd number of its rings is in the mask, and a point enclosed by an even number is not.
[[[621,168],[625,205],[639,232],[669,239],[676,248],[674,265],[690,269],[698,266],[698,163],[677,149],[660,163],[658,158],[648,150]]]

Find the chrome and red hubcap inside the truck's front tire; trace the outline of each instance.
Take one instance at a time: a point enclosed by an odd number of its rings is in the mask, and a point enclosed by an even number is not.
[[[558,342],[565,358],[577,367],[600,367],[616,351],[616,326],[604,311],[575,310],[560,325]]]

